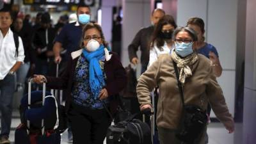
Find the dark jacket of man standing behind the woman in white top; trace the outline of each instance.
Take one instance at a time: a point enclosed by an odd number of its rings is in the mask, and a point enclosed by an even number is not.
[[[136,34],[136,36],[132,40],[132,43],[128,46],[130,61],[134,57],[138,58],[136,52],[138,51],[138,48],[140,47],[141,65],[142,66],[148,65],[149,43],[150,43],[150,39],[153,35],[153,32],[154,32],[154,26],[148,26],[147,28],[140,29],[140,31]]]

